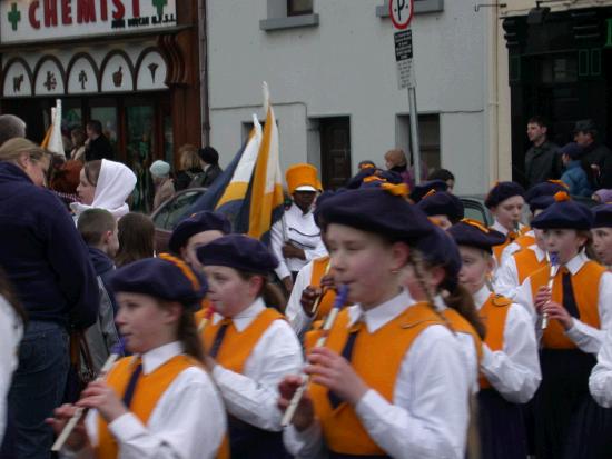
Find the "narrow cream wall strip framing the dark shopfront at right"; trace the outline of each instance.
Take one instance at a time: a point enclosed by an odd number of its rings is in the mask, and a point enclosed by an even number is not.
[[[490,112],[490,118],[496,117],[496,121],[490,120],[490,126],[497,127],[496,144],[492,144],[491,153],[491,177],[494,180],[510,180],[512,177],[512,146],[511,146],[511,122],[510,122],[510,86],[507,81],[507,49],[504,39],[503,19],[511,16],[526,16],[535,7],[535,0],[500,0],[506,3],[506,8],[500,8],[494,29],[496,31],[496,56],[495,61],[490,62],[490,72],[496,80],[496,112]],[[566,11],[569,9],[593,8],[611,6],[612,0],[566,0],[556,3],[545,3],[552,12]]]

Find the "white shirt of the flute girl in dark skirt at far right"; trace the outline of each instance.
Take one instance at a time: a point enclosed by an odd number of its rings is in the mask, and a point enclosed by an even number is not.
[[[574,276],[580,271],[582,266],[589,261],[589,258],[584,252],[580,252],[572,258],[565,266]],[[565,336],[571,339],[580,350],[588,353],[598,353],[603,345],[605,330],[612,328],[612,272],[604,272],[600,279],[599,285],[599,301],[598,311],[600,315],[601,329],[591,327],[584,322],[581,322],[576,318],[572,318],[573,326]],[[541,333],[541,327],[539,327],[539,316],[535,313],[535,307],[533,305],[533,296],[531,292],[531,277],[516,290],[515,301],[524,306],[532,316],[532,321],[536,326],[536,332]]]

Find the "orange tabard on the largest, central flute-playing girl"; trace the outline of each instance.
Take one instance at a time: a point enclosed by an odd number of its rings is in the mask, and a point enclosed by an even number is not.
[[[342,353],[348,338],[348,310],[340,311],[326,342],[326,347],[338,353]],[[351,365],[367,386],[392,402],[395,379],[404,356],[418,335],[432,325],[444,325],[444,321],[427,303],[416,303],[374,333],[363,327],[355,340]],[[320,385],[310,385],[309,392],[326,445],[332,451],[385,455],[369,438],[351,405],[342,402],[333,409],[328,390]]]

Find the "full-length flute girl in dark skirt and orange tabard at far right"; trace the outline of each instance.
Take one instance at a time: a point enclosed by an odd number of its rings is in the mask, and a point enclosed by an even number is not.
[[[556,193],[555,200],[532,226],[544,230],[546,250],[562,268],[556,273],[549,267],[535,271],[516,296],[534,319],[545,315],[549,321],[540,356],[542,383],[534,398],[536,456],[598,457],[585,451],[601,445],[596,432],[602,419],[592,406],[588,380],[612,321],[612,275],[584,253],[591,210],[566,193]],[[542,321],[534,321],[541,330]],[[593,416],[583,419],[580,413],[588,411]]]

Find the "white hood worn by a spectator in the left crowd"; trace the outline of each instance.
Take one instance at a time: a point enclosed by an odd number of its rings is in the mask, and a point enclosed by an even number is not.
[[[126,200],[136,187],[136,176],[126,164],[102,159],[93,202],[90,206],[73,202],[70,208],[77,219],[88,209],[106,209],[119,219],[129,212]]]

